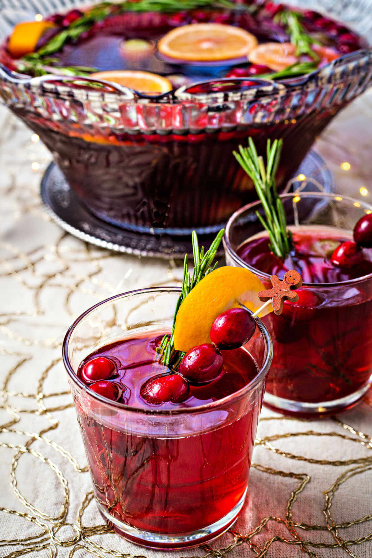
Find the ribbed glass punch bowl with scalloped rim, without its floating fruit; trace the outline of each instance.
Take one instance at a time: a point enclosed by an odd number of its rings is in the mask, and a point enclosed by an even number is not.
[[[0,0],[0,41],[36,13],[84,4]],[[370,20],[365,1],[350,0],[352,9],[344,4],[326,2],[328,14],[350,16],[351,25]],[[125,28],[163,29],[167,17],[127,12]],[[239,144],[253,136],[262,151],[268,137],[283,138],[282,189],[316,136],[371,81],[372,50],[366,47],[291,81],[210,79],[157,98],[119,85],[98,88],[87,78],[27,78],[0,66],[0,97],[40,136],[96,217],[136,232],[180,235],[212,233],[255,199],[233,156]]]

